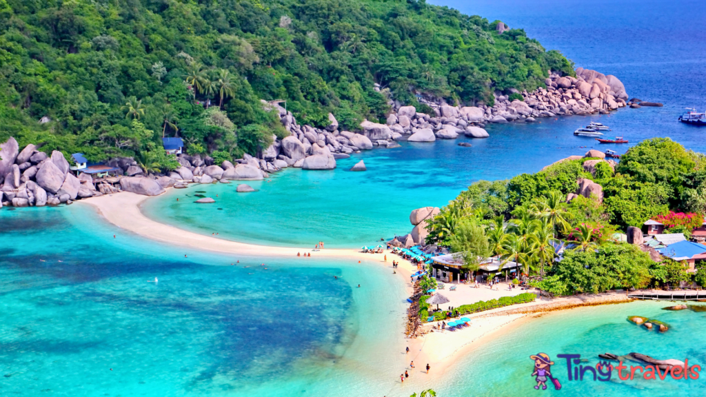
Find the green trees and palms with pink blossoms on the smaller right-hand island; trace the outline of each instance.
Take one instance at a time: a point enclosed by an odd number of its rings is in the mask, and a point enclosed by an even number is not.
[[[667,225],[665,233],[689,238],[706,213],[705,156],[669,138],[654,138],[630,148],[617,165],[601,161],[585,167],[590,160],[598,159],[566,160],[536,174],[476,182],[428,223],[426,241],[459,253],[467,271],[494,255],[520,263],[522,273],[537,277],[534,285],[558,295],[682,281],[706,286],[706,266],[697,263],[690,274],[683,263],[657,263],[616,239],[616,233],[649,219]],[[578,195],[567,203],[581,178],[602,186],[602,200]],[[556,261],[559,244],[568,249]]]

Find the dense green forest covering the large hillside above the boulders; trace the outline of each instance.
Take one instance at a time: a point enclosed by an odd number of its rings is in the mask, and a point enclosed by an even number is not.
[[[168,168],[162,136],[222,159],[285,136],[261,100],[356,129],[390,98],[492,103],[573,73],[496,25],[424,0],[0,0],[0,141]]]

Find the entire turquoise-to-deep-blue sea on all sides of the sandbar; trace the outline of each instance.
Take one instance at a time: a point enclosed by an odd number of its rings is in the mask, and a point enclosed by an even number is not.
[[[536,172],[597,148],[570,134],[593,120],[630,145],[669,136],[706,152],[706,130],[676,122],[683,107],[706,106],[701,2],[434,2],[525,28],[578,66],[615,74],[631,96],[665,106],[489,126],[491,138],[472,140],[472,148],[458,140],[371,150],[331,172],[286,170],[253,183],[253,194],[236,194],[234,184],[193,186],[149,201],[145,212],[244,242],[356,247],[408,232],[409,211],[442,206],[478,179]],[[369,171],[347,172],[360,159]],[[217,203],[177,203],[197,190],[218,194]],[[530,396],[538,392],[529,357],[538,352],[556,362],[552,373],[563,384],[546,393],[706,394],[700,379],[568,381],[556,359],[578,353],[594,365],[601,352],[641,352],[706,365],[704,314],[665,312],[667,302],[546,314],[486,338],[442,377],[412,372],[399,384],[409,358],[404,285],[380,263],[353,262],[186,252],[117,230],[88,206],[2,208],[0,396],[389,397],[426,387],[440,396]],[[159,283],[148,282],[155,277]],[[644,331],[628,315],[671,330]]]

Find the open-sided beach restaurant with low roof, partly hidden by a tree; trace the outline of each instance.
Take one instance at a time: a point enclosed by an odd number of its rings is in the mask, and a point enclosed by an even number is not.
[[[431,260],[433,261],[431,263],[431,276],[436,278],[436,280],[441,280],[444,283],[453,281],[460,283],[461,280],[469,280],[470,278],[470,272],[465,272],[462,268],[463,257],[461,254],[434,256]],[[476,272],[476,280],[479,283],[485,283],[486,280],[496,275],[505,277],[505,280],[515,278],[517,275],[517,263],[508,261],[502,265],[501,270],[502,263],[497,256],[482,261],[479,270]]]

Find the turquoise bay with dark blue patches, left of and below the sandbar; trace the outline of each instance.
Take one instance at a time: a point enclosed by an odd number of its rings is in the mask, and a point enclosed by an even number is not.
[[[404,365],[404,285],[376,263],[183,252],[79,206],[0,224],[2,396],[352,396]]]

